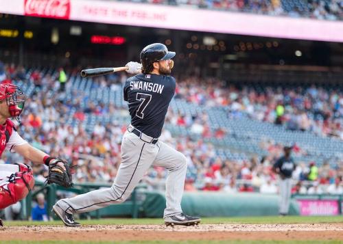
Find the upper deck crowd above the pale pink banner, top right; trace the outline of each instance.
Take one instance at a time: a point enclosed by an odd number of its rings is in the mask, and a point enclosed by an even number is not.
[[[340,0],[124,0],[141,3],[186,5],[195,8],[267,14],[272,16],[306,17],[343,20]]]

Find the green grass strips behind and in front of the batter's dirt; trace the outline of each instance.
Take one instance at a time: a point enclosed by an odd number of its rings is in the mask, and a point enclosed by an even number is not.
[[[93,219],[93,220],[80,220],[84,225],[147,225],[147,224],[163,224],[163,219]],[[272,224],[272,223],[343,223],[343,217],[299,217],[299,216],[287,216],[287,217],[214,217],[214,218],[202,218],[204,224],[220,224],[220,223],[252,223],[252,224]],[[34,221],[5,221],[5,226],[41,226],[41,225],[62,225],[61,221],[50,222],[34,222]],[[0,229],[1,235],[1,229]],[[3,241],[0,243],[9,244],[57,244],[57,243],[94,243],[94,242],[78,242],[78,241]],[[99,242],[99,243],[124,243],[124,244],[231,244],[231,243],[343,243],[342,241],[124,241],[124,242]]]

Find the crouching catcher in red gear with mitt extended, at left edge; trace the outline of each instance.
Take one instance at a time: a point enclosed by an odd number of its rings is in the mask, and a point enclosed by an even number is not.
[[[8,148],[33,163],[44,163],[49,167],[47,183],[71,186],[71,173],[66,161],[50,157],[27,143],[16,131],[9,118],[20,123],[25,104],[25,95],[16,85],[0,84],[0,156]],[[32,169],[23,163],[0,165],[0,210],[26,197],[34,187]],[[0,219],[0,226],[3,223]]]

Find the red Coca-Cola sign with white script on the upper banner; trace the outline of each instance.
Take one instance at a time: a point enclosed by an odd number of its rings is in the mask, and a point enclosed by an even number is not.
[[[25,0],[25,15],[69,19],[71,0]]]

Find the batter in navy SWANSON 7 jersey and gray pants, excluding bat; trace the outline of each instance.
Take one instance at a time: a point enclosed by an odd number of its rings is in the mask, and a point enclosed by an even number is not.
[[[167,206],[164,220],[167,226],[193,226],[200,219],[182,213],[181,199],[187,171],[186,157],[158,140],[165,115],[174,96],[176,81],[170,76],[174,52],[160,43],[145,46],[141,64],[129,62],[128,72],[139,74],[127,79],[123,98],[128,101],[131,124],[121,142],[121,164],[112,187],[62,199],[53,211],[66,226],[80,226],[73,213],[85,213],[124,202],[143,178],[150,166],[169,171],[166,182]]]

